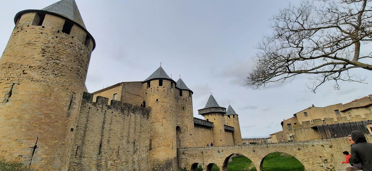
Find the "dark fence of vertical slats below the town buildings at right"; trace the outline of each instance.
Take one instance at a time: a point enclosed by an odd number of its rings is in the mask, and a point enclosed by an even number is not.
[[[317,125],[316,127],[322,139],[330,139],[330,138],[347,137],[348,135],[351,134],[352,131],[361,131],[365,135],[370,134],[367,128],[367,124],[370,124],[370,123],[372,123],[371,120],[338,123],[338,124]]]

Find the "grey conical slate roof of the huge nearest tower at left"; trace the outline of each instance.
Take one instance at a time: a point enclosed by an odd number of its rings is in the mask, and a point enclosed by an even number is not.
[[[81,18],[75,0],[61,0],[41,10],[65,16],[85,28],[83,18]]]

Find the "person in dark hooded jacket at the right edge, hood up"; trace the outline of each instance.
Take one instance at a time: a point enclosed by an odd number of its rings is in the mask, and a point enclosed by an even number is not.
[[[360,131],[353,131],[351,138],[355,145],[351,147],[350,160],[353,163],[362,163],[363,171],[372,171],[372,144],[367,142]]]

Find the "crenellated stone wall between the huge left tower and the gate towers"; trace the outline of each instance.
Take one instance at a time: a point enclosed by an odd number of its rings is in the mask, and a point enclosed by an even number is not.
[[[84,92],[69,171],[150,171],[150,109]]]

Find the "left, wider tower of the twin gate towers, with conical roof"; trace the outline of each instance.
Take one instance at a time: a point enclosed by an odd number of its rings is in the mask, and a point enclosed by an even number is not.
[[[159,67],[142,81],[142,106],[150,111],[150,161],[153,171],[177,170],[177,96],[176,82]]]

